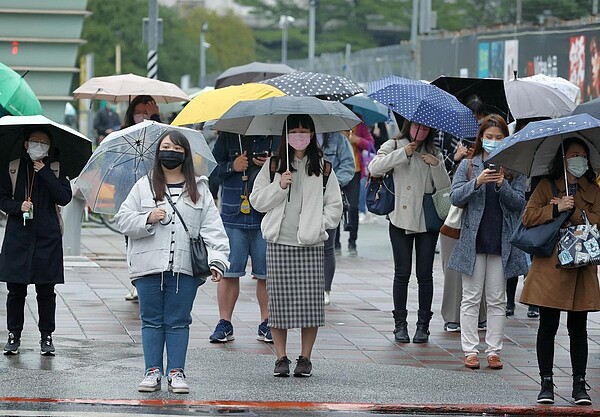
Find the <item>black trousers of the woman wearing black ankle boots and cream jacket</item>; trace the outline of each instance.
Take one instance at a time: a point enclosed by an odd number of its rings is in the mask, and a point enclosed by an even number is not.
[[[407,234],[390,223],[390,241],[394,256],[394,310],[406,310],[408,281],[412,272],[413,244],[416,249],[419,310],[431,311],[433,300],[433,260],[437,232]]]

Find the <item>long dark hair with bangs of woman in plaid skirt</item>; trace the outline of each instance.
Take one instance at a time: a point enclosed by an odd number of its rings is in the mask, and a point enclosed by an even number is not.
[[[312,134],[310,143],[306,148],[306,171],[308,175],[316,175],[318,177],[321,175],[321,160],[323,159],[323,151],[317,143],[315,123],[308,114],[292,114],[287,117],[287,131],[285,130],[286,126],[284,125],[283,132],[281,133],[281,140],[279,141],[279,149],[277,150],[277,161],[279,163],[279,169],[277,172],[283,174],[287,170],[287,164],[283,163],[286,158],[289,161],[290,171],[296,170],[292,165],[292,161],[294,159],[294,148],[289,145],[286,146],[287,141],[285,138],[290,129],[295,129],[297,127],[308,128]]]

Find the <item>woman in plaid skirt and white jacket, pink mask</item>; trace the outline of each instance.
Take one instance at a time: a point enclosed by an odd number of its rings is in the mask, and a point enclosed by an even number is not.
[[[277,353],[274,376],[289,376],[287,330],[301,328],[294,376],[309,377],[317,330],[325,324],[323,246],[326,230],[340,221],[342,199],[335,173],[327,176],[324,169],[310,116],[287,118],[273,158],[258,174],[250,203],[266,213],[261,229],[267,241],[269,326]]]

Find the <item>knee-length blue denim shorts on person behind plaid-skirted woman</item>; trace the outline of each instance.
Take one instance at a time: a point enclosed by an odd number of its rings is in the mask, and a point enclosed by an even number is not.
[[[248,256],[252,259],[252,275],[267,279],[267,242],[260,229],[236,229],[225,226],[229,238],[229,269],[224,278],[246,275]]]

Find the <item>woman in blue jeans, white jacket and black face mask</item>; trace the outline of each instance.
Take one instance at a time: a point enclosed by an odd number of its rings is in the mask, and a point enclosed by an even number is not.
[[[187,394],[185,358],[201,281],[193,276],[190,240],[169,198],[190,234],[204,239],[215,282],[228,266],[229,241],[208,180],[194,175],[190,144],[182,133],[169,131],[159,139],[151,174],[134,185],[116,215],[121,233],[129,237],[129,275],[140,302],[145,374],[138,391],[160,390],[166,374],[169,391]]]

